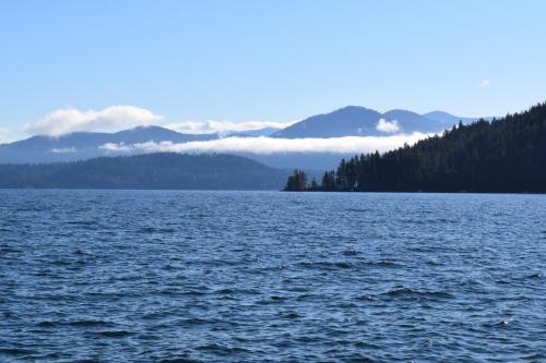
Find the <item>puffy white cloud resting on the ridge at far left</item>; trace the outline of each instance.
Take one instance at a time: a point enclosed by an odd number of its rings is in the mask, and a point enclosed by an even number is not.
[[[75,131],[117,131],[149,125],[163,117],[134,106],[111,106],[103,110],[81,111],[75,108],[55,110],[44,119],[26,124],[29,134],[58,136]]]

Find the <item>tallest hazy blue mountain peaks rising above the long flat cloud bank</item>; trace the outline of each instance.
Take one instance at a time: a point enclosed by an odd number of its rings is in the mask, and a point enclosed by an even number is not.
[[[274,137],[388,136],[397,133],[441,132],[459,123],[477,119],[460,118],[447,112],[419,114],[407,110],[380,113],[365,107],[347,106],[330,113],[317,114],[277,131]]]

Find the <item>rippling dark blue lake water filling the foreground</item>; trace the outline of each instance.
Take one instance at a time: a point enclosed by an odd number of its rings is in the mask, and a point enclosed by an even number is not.
[[[546,196],[0,191],[0,361],[544,362]]]

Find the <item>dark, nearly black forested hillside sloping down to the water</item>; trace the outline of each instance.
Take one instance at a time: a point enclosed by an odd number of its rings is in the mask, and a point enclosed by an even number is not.
[[[301,190],[294,173],[287,189]],[[546,102],[402,147],[342,160],[324,191],[546,193]]]

